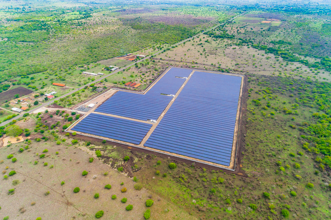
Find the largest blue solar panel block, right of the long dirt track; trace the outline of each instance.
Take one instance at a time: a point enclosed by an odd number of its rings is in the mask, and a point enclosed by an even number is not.
[[[230,165],[241,80],[194,72],[144,146]]]

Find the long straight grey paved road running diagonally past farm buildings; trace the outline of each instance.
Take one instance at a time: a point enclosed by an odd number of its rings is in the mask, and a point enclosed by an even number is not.
[[[247,12],[249,12],[249,11],[247,11]],[[214,27],[212,27],[212,28],[206,30],[206,32],[209,31],[209,30],[211,30],[211,29],[213,29],[213,28],[215,28],[215,27],[218,27],[218,26],[220,26],[220,25],[223,25],[223,24],[225,24],[226,22],[231,21],[231,20],[233,20],[233,19],[235,19],[235,18],[237,18],[237,17],[239,17],[239,16],[241,16],[241,15],[247,13],[247,12],[244,12],[244,13],[242,13],[242,14],[240,14],[240,15],[237,15],[236,17],[233,17],[233,18],[231,18],[231,19],[229,19],[229,20],[227,20],[227,21],[225,21],[225,22],[223,22],[223,23],[221,23],[221,24],[218,24],[218,25],[216,25],[216,26],[214,26]],[[191,40],[192,38],[197,37],[197,36],[199,36],[199,35],[201,35],[201,34],[203,34],[203,33],[200,33],[200,34],[197,34],[197,35],[195,35],[195,36],[193,36],[193,37],[187,38],[187,39],[185,39],[185,40],[183,40],[183,41],[181,41],[181,42],[178,42],[178,43],[176,43],[176,44],[174,44],[174,45],[171,45],[171,46],[179,45],[179,44],[181,44],[181,43],[183,43],[183,42],[185,42],[185,41]],[[158,55],[158,54],[160,54],[161,52],[162,52],[162,51],[156,52],[155,54],[153,54],[153,56]],[[128,67],[130,67],[130,66],[133,66],[133,65],[135,65],[136,63],[139,63],[139,62],[141,62],[141,61],[144,61],[144,60],[146,60],[146,59],[149,59],[150,57],[151,57],[151,56],[147,56],[147,57],[145,57],[145,58],[143,58],[143,59],[141,59],[141,60],[139,60],[139,61],[137,61],[137,62],[133,62],[132,64],[130,64],[130,65],[128,65],[128,66],[125,66],[125,67],[120,68],[120,69],[118,69],[118,70],[116,70],[116,71],[114,71],[114,72],[111,72],[110,74],[105,75],[105,76],[103,76],[103,77],[101,77],[101,78],[99,78],[99,79],[97,79],[97,80],[95,80],[95,81],[93,81],[93,82],[91,82],[91,83],[89,83],[89,84],[83,85],[83,86],[81,86],[81,87],[79,87],[79,88],[77,88],[77,89],[75,89],[75,90],[72,90],[71,92],[68,92],[68,93],[66,93],[66,94],[64,94],[64,95],[62,95],[62,96],[60,96],[60,97],[53,98],[51,101],[45,102],[45,103],[43,103],[42,105],[38,106],[37,108],[31,109],[31,110],[29,110],[29,111],[27,111],[27,112],[23,112],[23,113],[21,113],[20,115],[14,117],[14,118],[12,118],[12,119],[10,119],[10,120],[8,120],[8,121],[5,121],[5,122],[1,123],[0,126],[7,125],[7,124],[10,123],[11,121],[13,121],[13,120],[17,120],[18,118],[22,117],[22,115],[23,115],[24,113],[32,113],[33,111],[35,111],[35,110],[38,109],[38,108],[44,107],[44,106],[46,106],[46,105],[49,105],[49,104],[53,103],[55,100],[59,100],[60,98],[64,98],[64,97],[66,97],[66,96],[68,96],[68,95],[71,95],[72,93],[77,92],[78,90],[83,89],[85,86],[89,86],[89,85],[92,84],[92,83],[95,84],[95,83],[99,82],[100,80],[103,80],[103,79],[105,79],[105,78],[107,78],[107,77],[109,77],[109,76],[111,76],[111,75],[113,75],[113,74],[115,74],[115,73],[117,73],[117,72],[119,72],[119,71],[122,71],[123,69],[126,69],[126,68],[128,68]],[[15,113],[13,113],[13,114],[15,114]]]

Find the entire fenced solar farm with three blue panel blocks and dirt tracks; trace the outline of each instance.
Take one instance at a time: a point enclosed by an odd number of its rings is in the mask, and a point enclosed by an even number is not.
[[[144,93],[118,91],[67,130],[234,169],[243,82],[170,67]]]

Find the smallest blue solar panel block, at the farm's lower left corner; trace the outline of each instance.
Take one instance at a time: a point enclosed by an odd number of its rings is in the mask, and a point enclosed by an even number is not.
[[[151,127],[152,125],[147,123],[91,113],[71,129],[139,144]]]

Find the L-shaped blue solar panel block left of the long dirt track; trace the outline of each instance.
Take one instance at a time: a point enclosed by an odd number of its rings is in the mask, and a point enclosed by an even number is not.
[[[161,93],[176,94],[186,80],[176,77],[188,77],[191,72],[171,68],[146,94],[118,91],[95,111],[143,121],[157,120],[173,98]]]

